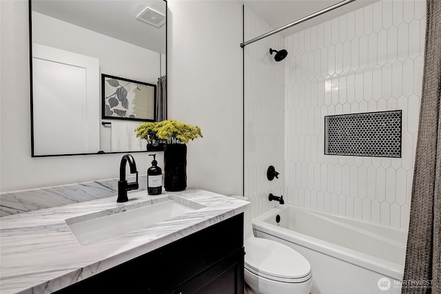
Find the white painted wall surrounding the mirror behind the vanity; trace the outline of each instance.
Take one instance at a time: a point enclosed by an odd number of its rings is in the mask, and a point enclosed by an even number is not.
[[[28,1],[0,5],[1,193],[117,178],[122,154],[30,157]],[[168,1],[168,6],[169,118],[199,125],[205,136],[188,145],[188,185],[241,193],[242,6],[236,1]],[[150,166],[147,154],[134,158],[139,171]]]

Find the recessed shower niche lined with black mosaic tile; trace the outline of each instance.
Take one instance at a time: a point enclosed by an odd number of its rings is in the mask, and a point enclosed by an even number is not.
[[[325,154],[401,157],[402,110],[325,116]]]

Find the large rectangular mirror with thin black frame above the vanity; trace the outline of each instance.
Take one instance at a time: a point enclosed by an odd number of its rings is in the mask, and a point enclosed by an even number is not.
[[[124,111],[123,119],[104,116],[101,103],[113,97],[112,107],[127,109],[141,83],[167,92],[167,1],[30,0],[29,6],[32,157],[147,151],[134,136],[144,122]],[[120,78],[107,81],[120,83],[112,85],[119,90],[113,96],[102,96],[102,75]],[[131,83],[127,92],[125,80],[140,87]],[[154,120],[165,115],[164,107]]]

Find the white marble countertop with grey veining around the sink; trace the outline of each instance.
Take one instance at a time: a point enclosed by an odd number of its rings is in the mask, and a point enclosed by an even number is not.
[[[201,189],[158,196],[136,191],[128,196],[125,203],[112,196],[0,218],[0,293],[52,293],[235,216],[249,203]],[[175,196],[203,208],[88,246],[77,242],[65,222]]]

